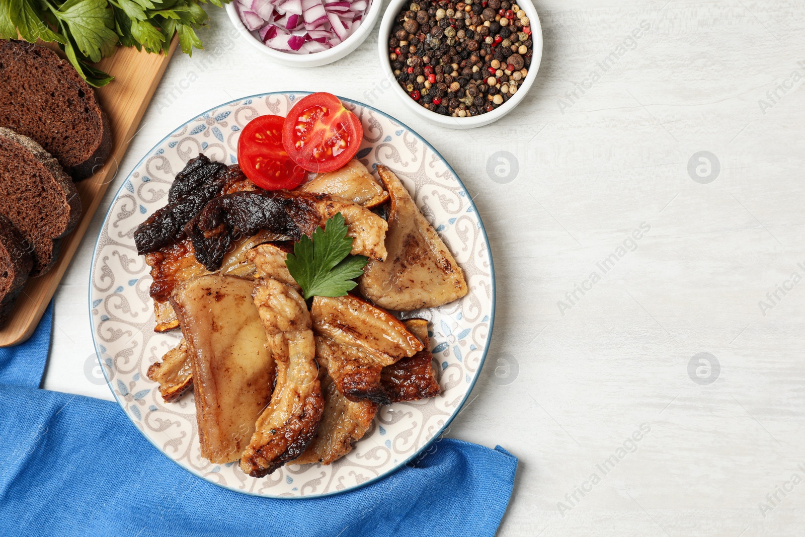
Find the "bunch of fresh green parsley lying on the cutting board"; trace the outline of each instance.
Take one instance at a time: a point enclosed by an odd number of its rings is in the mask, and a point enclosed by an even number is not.
[[[112,56],[116,45],[164,52],[175,34],[182,50],[202,48],[196,29],[208,0],[0,0],[0,38],[55,41],[93,86],[112,77],[90,63]],[[221,7],[229,0],[209,0]]]

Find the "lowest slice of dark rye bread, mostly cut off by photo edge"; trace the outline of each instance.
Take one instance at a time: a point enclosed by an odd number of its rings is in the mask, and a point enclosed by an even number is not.
[[[34,266],[31,246],[11,221],[0,214],[0,327]]]

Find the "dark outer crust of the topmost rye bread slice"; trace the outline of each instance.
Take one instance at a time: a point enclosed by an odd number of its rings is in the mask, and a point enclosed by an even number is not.
[[[93,88],[81,78],[81,75],[78,74],[76,69],[73,68],[68,61],[63,60],[56,52],[49,48],[14,39],[0,40],[0,60],[2,60],[2,56],[6,53],[12,56],[22,54],[38,56],[43,64],[58,73],[57,76],[64,81],[65,84],[70,84],[79,92],[84,93],[81,98],[85,101],[85,104],[89,110],[92,111],[93,115],[97,115],[97,118],[100,119],[101,136],[94,140],[86,141],[86,158],[79,163],[68,165],[61,155],[55,156],[64,167],[64,171],[72,176],[73,179],[80,180],[92,176],[93,171],[104,163],[106,157],[108,157],[109,153],[112,151],[112,135],[109,127],[109,118],[106,117],[106,114],[101,109],[101,105],[97,101],[97,96]],[[14,127],[13,125],[9,126]],[[34,139],[37,138],[35,133],[24,134]]]

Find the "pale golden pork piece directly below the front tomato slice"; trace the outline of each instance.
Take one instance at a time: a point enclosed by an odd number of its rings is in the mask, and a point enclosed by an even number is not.
[[[298,189],[301,192],[338,196],[366,209],[373,209],[389,199],[389,193],[357,159],[350,160],[335,171],[317,174]]]

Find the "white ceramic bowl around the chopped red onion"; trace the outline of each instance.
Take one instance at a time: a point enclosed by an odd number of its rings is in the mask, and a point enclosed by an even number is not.
[[[241,32],[243,38],[271,59],[277,60],[281,64],[290,65],[291,67],[318,67],[320,65],[332,64],[332,62],[336,60],[341,60],[341,58],[358,48],[358,46],[369,37],[369,33],[374,29],[374,25],[378,23],[382,3],[383,0],[371,0],[369,10],[366,11],[363,15],[363,19],[361,19],[361,27],[359,27],[353,35],[345,39],[343,43],[339,43],[326,51],[315,52],[313,54],[292,54],[290,52],[277,51],[273,48],[266,47],[260,40],[260,35],[257,31],[248,31],[243,25],[240,15],[237,14],[235,2],[229,2],[226,5],[226,14],[229,15],[229,20],[232,21],[237,30]]]

